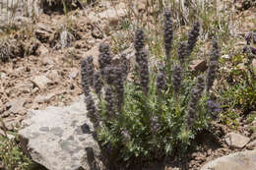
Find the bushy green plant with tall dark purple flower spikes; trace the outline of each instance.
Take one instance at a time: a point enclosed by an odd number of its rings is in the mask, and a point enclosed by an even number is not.
[[[149,65],[146,37],[141,28],[135,32],[136,64],[132,75],[125,55],[121,56],[119,65],[111,63],[106,44],[99,46],[98,71],[92,56],[82,61],[88,116],[94,123],[96,139],[112,150],[115,160],[136,157],[149,160],[176,151],[182,155],[196,134],[207,129],[220,112],[220,106],[211,97],[220,56],[218,42],[213,40],[206,75],[196,78],[188,70],[188,57],[196,45],[199,30],[200,24],[195,22],[187,40],[178,45],[177,54],[172,54],[173,26],[170,12],[165,11],[165,57],[157,68]],[[128,75],[132,80],[127,81]],[[98,102],[92,92],[96,93]]]

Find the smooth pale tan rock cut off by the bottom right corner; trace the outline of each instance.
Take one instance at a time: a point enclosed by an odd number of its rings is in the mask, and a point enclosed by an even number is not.
[[[255,170],[256,149],[220,157],[207,163],[201,170]]]

